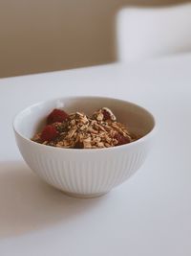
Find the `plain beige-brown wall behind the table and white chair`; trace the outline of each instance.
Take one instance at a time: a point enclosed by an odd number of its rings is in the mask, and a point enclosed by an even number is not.
[[[0,77],[115,60],[114,17],[179,0],[0,0]]]

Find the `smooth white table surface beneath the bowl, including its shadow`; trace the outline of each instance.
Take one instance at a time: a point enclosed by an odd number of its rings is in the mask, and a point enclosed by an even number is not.
[[[150,109],[158,140],[130,180],[68,198],[24,163],[11,121],[27,105],[102,95]],[[0,80],[1,256],[191,255],[191,54]]]

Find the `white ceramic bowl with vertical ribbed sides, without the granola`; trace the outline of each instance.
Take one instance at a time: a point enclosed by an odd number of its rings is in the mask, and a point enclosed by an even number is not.
[[[32,142],[53,108],[88,115],[107,106],[134,133],[138,141],[108,149],[61,149]],[[121,100],[103,97],[68,97],[32,105],[13,121],[18,148],[32,171],[53,187],[74,197],[93,198],[109,192],[135,174],[153,142],[155,119],[146,109]]]

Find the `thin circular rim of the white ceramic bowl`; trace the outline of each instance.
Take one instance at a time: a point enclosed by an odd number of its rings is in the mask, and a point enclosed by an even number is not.
[[[16,128],[16,121],[19,118],[19,116],[29,110],[30,108],[32,108],[33,106],[37,106],[37,105],[43,105],[43,104],[49,104],[49,103],[53,103],[56,101],[60,101],[60,100],[74,100],[74,99],[78,99],[78,100],[82,100],[82,99],[101,99],[101,100],[112,100],[112,101],[117,101],[117,102],[121,102],[124,104],[130,104],[130,105],[134,105],[138,108],[140,108],[141,110],[145,111],[148,115],[150,115],[150,117],[153,119],[153,128],[144,136],[142,136],[141,138],[139,138],[138,140],[128,143],[128,144],[124,144],[124,145],[119,145],[117,147],[110,147],[110,148],[103,148],[103,149],[85,149],[84,151],[82,151],[81,149],[65,149],[65,148],[59,148],[59,147],[52,147],[49,145],[44,145],[44,144],[40,144],[37,142],[32,141],[30,138],[24,136],[17,128]],[[113,98],[113,97],[104,97],[104,96],[66,96],[66,97],[59,97],[59,98],[52,98],[46,101],[41,101],[32,105],[28,105],[27,107],[23,108],[22,110],[20,110],[19,112],[17,112],[15,114],[15,116],[13,117],[13,121],[12,121],[12,128],[14,130],[14,132],[19,135],[23,140],[25,140],[27,143],[30,143],[36,147],[42,147],[41,149],[52,149],[53,151],[77,151],[77,152],[97,152],[97,151],[117,151],[118,149],[122,149],[122,148],[130,148],[132,146],[138,145],[140,143],[143,143],[145,140],[148,140],[150,137],[152,137],[156,132],[157,132],[157,122],[156,122],[156,117],[154,117],[154,115],[147,110],[145,107],[135,104],[133,102],[130,101],[126,101],[126,100],[122,100],[122,99],[117,99],[117,98]]]

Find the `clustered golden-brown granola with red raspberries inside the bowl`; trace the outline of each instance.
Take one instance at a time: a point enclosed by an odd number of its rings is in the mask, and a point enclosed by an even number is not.
[[[138,139],[117,122],[116,116],[107,107],[97,110],[91,118],[81,112],[67,114],[61,109],[53,109],[47,124],[34,135],[32,141],[67,149],[101,149]]]

